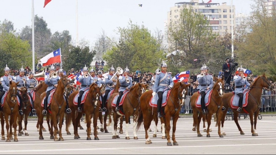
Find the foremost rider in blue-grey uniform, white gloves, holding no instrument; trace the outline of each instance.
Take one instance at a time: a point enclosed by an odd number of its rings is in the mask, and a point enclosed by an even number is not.
[[[161,63],[160,67],[167,67],[168,65],[163,62]],[[162,68],[161,68],[162,69]],[[162,117],[160,110],[161,110],[161,104],[162,104],[162,98],[165,88],[171,89],[173,86],[172,81],[172,75],[168,72],[156,72],[155,81],[153,85],[153,95],[157,92],[158,94],[158,100],[157,100],[157,115],[158,117]]]

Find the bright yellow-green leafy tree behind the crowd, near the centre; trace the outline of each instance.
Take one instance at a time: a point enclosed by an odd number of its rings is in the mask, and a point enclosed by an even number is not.
[[[103,58],[108,66],[136,68],[146,71],[155,71],[163,58],[163,51],[159,44],[144,25],[133,24],[131,21],[127,28],[118,28],[120,40],[104,54]]]

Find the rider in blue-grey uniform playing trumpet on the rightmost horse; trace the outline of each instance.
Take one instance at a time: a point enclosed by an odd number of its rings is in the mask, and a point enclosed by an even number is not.
[[[238,70],[243,71],[243,68],[241,67]],[[240,97],[239,104],[238,104],[239,108],[237,109],[237,111],[241,112],[241,109],[243,107],[243,89],[247,89],[244,87],[244,85],[246,85],[247,87],[250,87],[250,83],[247,82],[246,79],[243,79],[240,74],[235,75],[233,80],[234,80],[235,86],[236,86],[234,92],[235,92],[235,94],[237,94]]]

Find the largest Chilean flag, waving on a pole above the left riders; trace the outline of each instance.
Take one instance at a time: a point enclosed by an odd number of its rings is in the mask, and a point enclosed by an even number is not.
[[[43,64],[42,66],[47,66],[53,63],[61,62],[60,48],[44,56],[42,59],[40,59],[40,61]]]

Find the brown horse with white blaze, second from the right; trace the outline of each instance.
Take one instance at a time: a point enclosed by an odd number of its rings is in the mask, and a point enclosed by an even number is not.
[[[217,115],[217,124],[218,125],[218,135],[220,137],[223,137],[222,134],[220,133],[220,118],[221,118],[221,108],[222,108],[222,95],[223,95],[223,89],[224,89],[224,85],[223,85],[223,77],[222,79],[218,79],[216,77],[216,83],[213,86],[213,91],[211,93],[211,99],[210,99],[210,103],[207,106],[208,108],[208,114],[206,114],[206,119],[207,119],[207,123],[208,123],[208,127],[207,127],[207,137],[210,137],[210,125],[211,125],[211,118],[212,118],[212,114],[216,113]],[[197,136],[200,137],[202,136],[202,134],[200,133],[200,129],[199,129],[199,125],[200,125],[200,121],[202,118],[202,110],[201,107],[196,107],[196,99],[197,97],[200,95],[200,93],[194,93],[193,96],[191,97],[191,106],[193,109],[193,119],[194,122],[196,124],[197,127]],[[197,113],[199,112],[199,116],[197,116]]]

